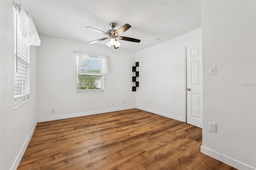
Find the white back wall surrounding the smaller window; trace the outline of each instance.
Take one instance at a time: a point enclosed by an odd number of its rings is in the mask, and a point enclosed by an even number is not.
[[[122,47],[114,49],[46,35],[40,35],[40,39],[38,121],[135,108],[135,92],[132,92],[134,52],[122,51]],[[104,93],[76,93],[74,51],[108,55],[109,73],[104,76]],[[124,99],[126,103],[123,103]],[[52,108],[55,113],[51,113]]]

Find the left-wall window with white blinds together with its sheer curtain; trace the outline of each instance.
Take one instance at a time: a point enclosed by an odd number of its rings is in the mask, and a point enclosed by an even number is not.
[[[41,41],[28,12],[21,4],[14,4],[14,7],[14,108],[16,108],[30,97],[30,45],[40,46]]]

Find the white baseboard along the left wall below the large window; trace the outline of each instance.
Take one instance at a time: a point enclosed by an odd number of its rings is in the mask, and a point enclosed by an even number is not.
[[[26,148],[28,147],[28,144],[30,142],[30,139],[35,131],[36,125],[37,125],[38,121],[36,119],[36,122],[34,123],[33,127],[31,128],[28,137],[26,138],[22,148],[20,149],[20,152],[18,153],[18,156],[16,157],[16,159],[14,160],[14,163],[12,164],[12,168],[11,170],[16,170],[20,164],[20,161],[22,159],[22,156],[24,155]]]

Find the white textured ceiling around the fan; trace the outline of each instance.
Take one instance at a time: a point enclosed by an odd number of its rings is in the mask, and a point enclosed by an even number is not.
[[[86,26],[107,32],[116,22],[132,27],[119,49],[140,51],[201,27],[201,2],[195,0],[21,0],[39,33],[82,42],[104,38]],[[160,39],[160,40],[158,40]],[[105,45],[107,40],[91,45]],[[113,47],[112,47],[113,48]]]

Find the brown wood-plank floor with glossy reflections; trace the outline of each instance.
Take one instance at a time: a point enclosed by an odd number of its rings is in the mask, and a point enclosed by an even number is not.
[[[130,109],[38,123],[18,170],[234,170],[200,153],[202,129]]]

